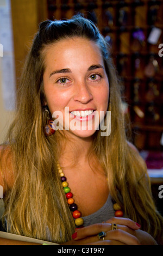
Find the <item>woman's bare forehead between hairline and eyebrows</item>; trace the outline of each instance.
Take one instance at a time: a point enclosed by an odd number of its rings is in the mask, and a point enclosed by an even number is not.
[[[101,62],[103,57],[98,44],[85,38],[69,38],[45,46],[43,50],[45,67],[56,63]]]

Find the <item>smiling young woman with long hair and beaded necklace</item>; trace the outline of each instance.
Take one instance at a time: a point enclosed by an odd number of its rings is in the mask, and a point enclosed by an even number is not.
[[[1,150],[7,232],[64,245],[159,242],[162,217],[145,163],[127,142],[116,71],[97,27],[82,16],[42,22],[17,95]],[[102,134],[103,121],[111,133]]]

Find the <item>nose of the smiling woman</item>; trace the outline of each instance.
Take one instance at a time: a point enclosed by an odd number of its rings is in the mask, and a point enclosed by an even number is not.
[[[73,96],[74,101],[79,101],[85,104],[93,99],[93,95],[90,91],[90,88],[87,86],[85,82],[78,83],[78,85],[75,87],[74,90],[75,90],[74,96]]]

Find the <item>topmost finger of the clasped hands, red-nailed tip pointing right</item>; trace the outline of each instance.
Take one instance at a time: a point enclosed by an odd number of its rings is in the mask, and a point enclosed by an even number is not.
[[[118,217],[113,217],[110,218],[106,223],[116,223],[120,225],[126,225],[127,227],[137,230],[140,229],[141,225],[130,220],[129,218],[118,218]]]

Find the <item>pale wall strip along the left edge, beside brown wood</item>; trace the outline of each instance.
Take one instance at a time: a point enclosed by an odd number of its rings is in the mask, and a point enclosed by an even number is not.
[[[15,68],[10,0],[0,0],[0,43],[2,46],[0,52],[0,143],[3,143],[14,116],[13,105],[15,103]]]

